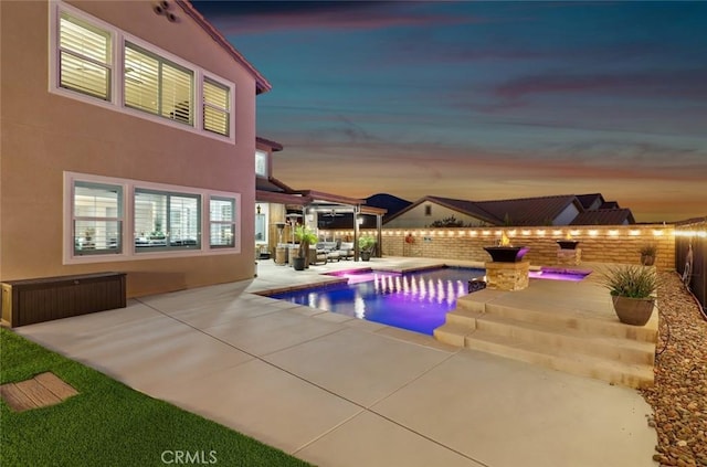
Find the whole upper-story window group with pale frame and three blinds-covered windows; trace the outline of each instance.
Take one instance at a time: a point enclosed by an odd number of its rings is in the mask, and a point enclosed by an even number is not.
[[[63,1],[50,14],[50,92],[235,142],[233,83]]]

